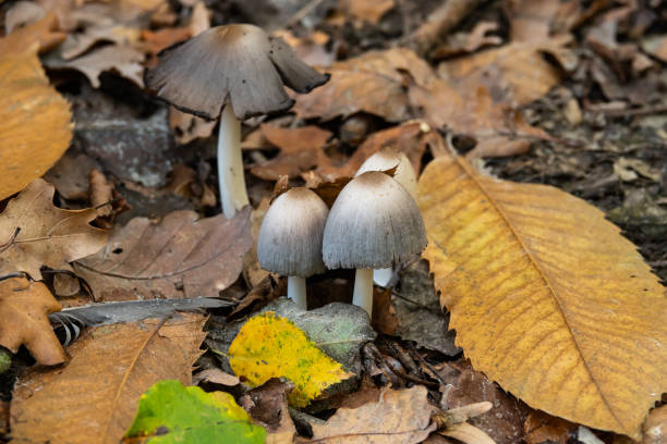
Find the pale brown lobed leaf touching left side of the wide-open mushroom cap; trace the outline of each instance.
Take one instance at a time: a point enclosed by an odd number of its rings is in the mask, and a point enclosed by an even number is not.
[[[96,51],[68,61],[54,61],[50,67],[71,69],[85,75],[94,88],[99,88],[99,76],[104,72],[114,72],[121,77],[144,87],[144,54],[129,46],[110,45]]]

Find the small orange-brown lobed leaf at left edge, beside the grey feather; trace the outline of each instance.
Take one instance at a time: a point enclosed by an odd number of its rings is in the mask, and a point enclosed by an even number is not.
[[[45,366],[64,362],[65,354],[48,318],[60,309],[40,282],[24,278],[0,281],[0,345],[12,353],[25,345],[35,360]]]

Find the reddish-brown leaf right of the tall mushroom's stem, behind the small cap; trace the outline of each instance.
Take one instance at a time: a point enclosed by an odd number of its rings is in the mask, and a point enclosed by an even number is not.
[[[280,148],[280,153],[251,169],[259,178],[276,181],[281,175],[296,177],[326,159],[324,147],[331,137],[328,131],[314,125],[300,128],[262,125],[260,130],[269,143]]]

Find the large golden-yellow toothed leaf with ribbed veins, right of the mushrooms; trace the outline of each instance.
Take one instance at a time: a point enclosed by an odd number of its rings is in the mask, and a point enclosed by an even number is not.
[[[420,208],[475,369],[534,408],[638,437],[667,391],[667,298],[620,230],[557,188],[448,156],[424,171]]]

